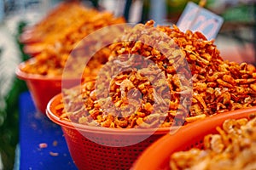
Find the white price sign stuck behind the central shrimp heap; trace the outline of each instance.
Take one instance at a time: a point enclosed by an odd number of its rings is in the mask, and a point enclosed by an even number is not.
[[[217,37],[223,22],[224,19],[217,14],[189,2],[177,21],[177,26],[181,31],[201,31],[208,40],[211,40]]]

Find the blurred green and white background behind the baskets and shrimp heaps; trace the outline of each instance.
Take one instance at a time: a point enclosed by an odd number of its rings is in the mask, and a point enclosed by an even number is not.
[[[19,94],[26,84],[15,67],[30,56],[19,42],[25,26],[42,19],[61,0],[0,0],[0,169],[14,169],[19,144]],[[128,22],[176,24],[186,0],[84,0],[91,8],[123,15]],[[199,1],[193,1],[199,3]],[[224,18],[216,45],[224,59],[256,64],[256,1],[207,0],[205,8]]]

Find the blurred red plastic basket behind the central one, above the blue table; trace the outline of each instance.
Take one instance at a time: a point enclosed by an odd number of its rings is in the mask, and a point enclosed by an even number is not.
[[[56,94],[61,93],[62,77],[49,77],[38,74],[29,74],[22,71],[22,67],[35,62],[35,59],[28,59],[25,62],[20,63],[16,68],[15,74],[21,80],[26,82],[29,91],[32,94],[32,99],[36,105],[38,111],[41,111],[45,115],[46,106],[50,99]],[[74,78],[64,80],[66,86],[73,87],[76,82]]]

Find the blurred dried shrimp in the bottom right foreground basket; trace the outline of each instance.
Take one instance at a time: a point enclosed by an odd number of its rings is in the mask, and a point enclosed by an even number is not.
[[[170,167],[177,169],[255,169],[256,118],[228,119],[218,133],[204,137],[204,148],[178,151]]]

